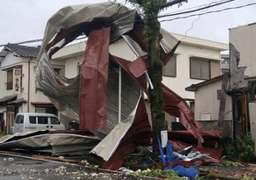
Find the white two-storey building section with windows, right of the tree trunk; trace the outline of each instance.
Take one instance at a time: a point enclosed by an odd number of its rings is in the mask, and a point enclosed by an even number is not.
[[[229,49],[224,43],[202,40],[193,37],[170,33],[181,44],[177,47],[173,68],[173,75],[163,75],[162,82],[180,97],[186,100],[194,99],[194,93],[186,91],[185,88],[193,83],[201,83],[205,80],[221,75],[221,52]]]

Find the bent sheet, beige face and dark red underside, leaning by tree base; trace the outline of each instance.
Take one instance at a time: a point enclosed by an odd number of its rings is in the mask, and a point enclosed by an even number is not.
[[[124,163],[125,155],[130,155],[136,146],[150,146],[151,138],[146,105],[144,99],[140,98],[134,116],[116,126],[106,140],[102,140],[91,151],[91,155],[101,162],[102,168],[119,169]]]

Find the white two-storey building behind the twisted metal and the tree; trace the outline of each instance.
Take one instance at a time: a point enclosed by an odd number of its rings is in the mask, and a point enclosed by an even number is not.
[[[201,40],[183,35],[169,33],[162,30],[163,38],[166,40],[177,39],[181,43],[177,47],[175,56],[163,68],[162,83],[167,85],[183,97],[189,104],[194,103],[194,93],[186,91],[185,88],[192,83],[201,83],[221,75],[221,52],[228,49],[227,44]],[[117,40],[109,47],[110,54],[122,57],[129,61],[137,58],[132,49],[123,39]],[[79,66],[84,58],[86,41],[60,49],[53,58],[64,61],[65,77],[73,78],[79,75]],[[150,113],[148,113],[150,116]],[[168,125],[177,121],[175,117],[166,115]]]

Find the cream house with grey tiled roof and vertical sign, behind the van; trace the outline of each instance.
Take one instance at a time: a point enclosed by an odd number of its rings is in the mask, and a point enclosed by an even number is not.
[[[11,133],[18,112],[58,112],[49,98],[35,88],[34,68],[40,47],[7,44],[0,52],[0,132]],[[63,61],[53,61],[64,75]]]

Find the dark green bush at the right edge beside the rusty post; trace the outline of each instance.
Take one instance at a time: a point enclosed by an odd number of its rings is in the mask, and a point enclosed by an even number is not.
[[[254,140],[252,135],[247,133],[236,137],[235,142],[225,144],[225,154],[244,162],[255,162]]]

